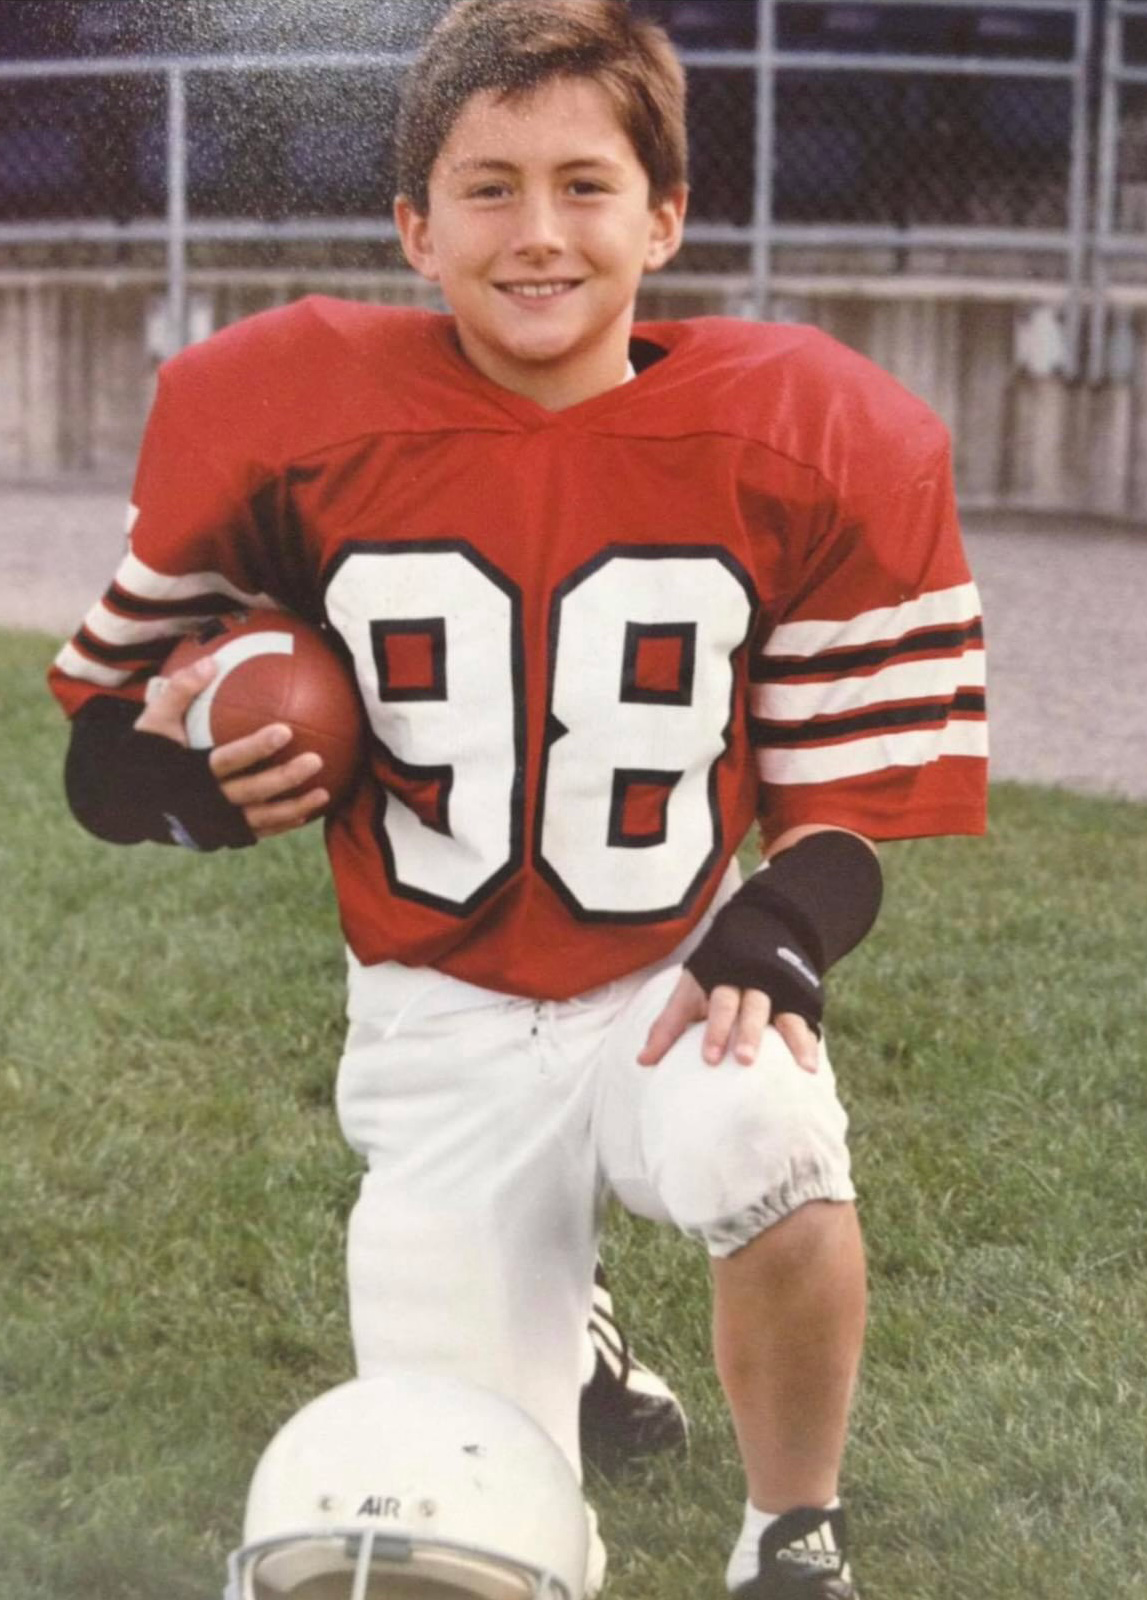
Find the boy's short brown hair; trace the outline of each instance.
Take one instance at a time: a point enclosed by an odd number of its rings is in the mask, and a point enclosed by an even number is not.
[[[474,94],[512,99],[562,77],[592,78],[609,96],[651,205],[686,181],[685,70],[664,29],[625,0],[461,0],[403,80],[398,192],[429,213],[430,168]]]

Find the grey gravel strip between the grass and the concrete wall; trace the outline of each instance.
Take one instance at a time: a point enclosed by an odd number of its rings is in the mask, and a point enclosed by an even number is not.
[[[120,486],[0,485],[0,626],[66,637],[123,547]],[[1147,530],[968,531],[992,776],[1147,800]]]

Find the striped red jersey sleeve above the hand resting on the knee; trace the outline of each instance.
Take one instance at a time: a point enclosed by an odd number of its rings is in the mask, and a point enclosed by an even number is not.
[[[867,448],[865,448],[867,446]],[[761,827],[869,838],[985,827],[984,630],[947,432],[862,435],[750,666]]]

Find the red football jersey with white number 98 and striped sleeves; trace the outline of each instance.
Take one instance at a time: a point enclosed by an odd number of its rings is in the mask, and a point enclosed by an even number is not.
[[[53,686],[139,699],[237,605],[330,622],[373,731],[326,822],[363,963],[563,998],[667,954],[757,814],[984,826],[941,422],[809,328],[635,334],[661,358],[557,413],[448,317],[322,298],[160,376],[130,552]]]

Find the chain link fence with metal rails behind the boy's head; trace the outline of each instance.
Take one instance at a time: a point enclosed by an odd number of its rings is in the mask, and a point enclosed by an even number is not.
[[[205,269],[398,269],[397,93],[446,5],[0,0],[0,270],[162,269],[178,301]],[[777,272],[1046,277],[1078,322],[1096,125],[1107,232],[1142,229],[1147,75],[1097,117],[1102,0],[633,5],[689,70],[681,285],[763,309]],[[1105,5],[1142,50],[1142,0]]]

